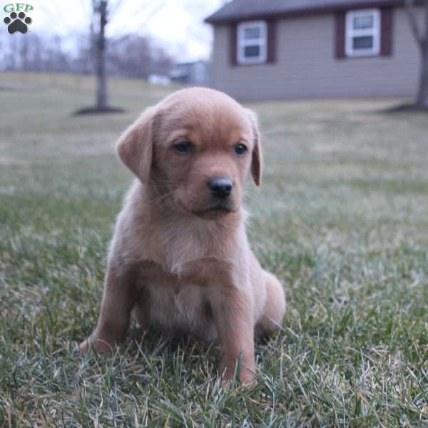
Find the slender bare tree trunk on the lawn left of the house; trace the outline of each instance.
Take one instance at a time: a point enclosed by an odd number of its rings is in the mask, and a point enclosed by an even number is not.
[[[96,34],[96,108],[103,110],[107,107],[107,82],[106,82],[106,36],[104,29],[107,24],[107,1],[101,0],[98,4],[99,31]]]

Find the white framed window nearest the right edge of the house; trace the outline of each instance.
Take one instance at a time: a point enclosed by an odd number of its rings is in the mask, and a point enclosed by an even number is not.
[[[345,47],[347,56],[379,55],[379,9],[347,12]]]

